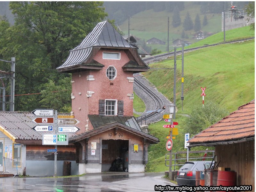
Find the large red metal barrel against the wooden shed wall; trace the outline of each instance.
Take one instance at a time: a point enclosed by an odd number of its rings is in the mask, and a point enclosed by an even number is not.
[[[235,186],[236,172],[234,171],[218,171],[217,185]]]

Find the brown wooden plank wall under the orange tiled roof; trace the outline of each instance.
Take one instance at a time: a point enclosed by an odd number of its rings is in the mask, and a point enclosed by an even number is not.
[[[252,185],[254,191],[254,140],[215,147],[219,167],[236,172],[236,185]]]

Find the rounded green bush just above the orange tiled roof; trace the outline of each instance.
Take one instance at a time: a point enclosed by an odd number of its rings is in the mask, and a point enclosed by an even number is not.
[[[204,107],[200,105],[192,109],[190,116],[186,118],[182,127],[185,132],[193,136],[227,115],[228,111],[226,109],[219,107],[212,101],[206,101]]]

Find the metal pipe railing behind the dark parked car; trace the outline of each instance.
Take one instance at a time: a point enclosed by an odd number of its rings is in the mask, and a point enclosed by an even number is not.
[[[176,166],[182,166],[187,162],[187,154],[188,161],[202,161],[208,160],[212,161],[214,157],[214,150],[205,150],[205,151],[179,151],[177,153],[172,153],[172,166],[174,166],[174,170],[176,170]],[[166,162],[169,162],[169,153],[165,154],[165,166],[169,166]],[[168,156],[168,157],[167,157]]]

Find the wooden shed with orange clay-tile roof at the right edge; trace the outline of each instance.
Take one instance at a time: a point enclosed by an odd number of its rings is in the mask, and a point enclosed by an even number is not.
[[[252,185],[254,191],[255,100],[240,106],[188,142],[190,147],[214,146],[219,167],[235,171],[236,185]]]

